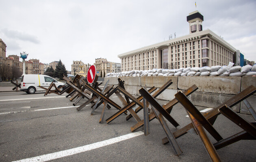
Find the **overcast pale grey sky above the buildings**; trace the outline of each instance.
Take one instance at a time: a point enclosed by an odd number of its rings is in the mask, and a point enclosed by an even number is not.
[[[28,53],[42,63],[117,55],[189,34],[189,13],[203,16],[203,30],[221,36],[256,61],[255,0],[0,0],[0,38],[8,55]]]

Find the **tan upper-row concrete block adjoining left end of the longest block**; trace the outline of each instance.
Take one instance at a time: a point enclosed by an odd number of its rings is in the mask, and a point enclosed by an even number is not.
[[[174,89],[177,90],[178,85],[178,77],[170,76],[170,77],[141,77],[141,86],[147,85],[147,87],[156,88],[162,87],[167,81],[173,82],[167,89]]]

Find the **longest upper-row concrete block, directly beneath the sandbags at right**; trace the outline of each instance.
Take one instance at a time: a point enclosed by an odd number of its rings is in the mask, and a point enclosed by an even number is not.
[[[241,77],[178,77],[179,90],[187,90],[193,84],[200,92],[237,94],[241,87]]]

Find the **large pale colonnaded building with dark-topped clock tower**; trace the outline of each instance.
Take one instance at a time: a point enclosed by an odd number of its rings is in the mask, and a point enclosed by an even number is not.
[[[189,35],[118,55],[121,71],[223,66],[234,61],[237,50],[211,30],[202,30],[200,12],[189,13],[187,21]]]

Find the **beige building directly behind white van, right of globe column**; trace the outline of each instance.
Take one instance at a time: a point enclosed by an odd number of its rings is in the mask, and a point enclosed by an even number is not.
[[[25,62],[25,73],[26,74],[43,74],[44,64],[39,62],[37,59],[30,59]]]

